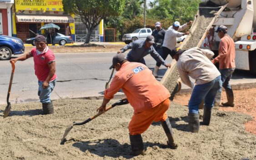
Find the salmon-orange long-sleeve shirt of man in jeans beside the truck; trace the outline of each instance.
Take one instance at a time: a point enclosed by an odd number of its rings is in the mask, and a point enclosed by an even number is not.
[[[211,60],[212,63],[219,62],[220,69],[235,68],[235,43],[230,36],[224,36],[219,45],[219,55]]]

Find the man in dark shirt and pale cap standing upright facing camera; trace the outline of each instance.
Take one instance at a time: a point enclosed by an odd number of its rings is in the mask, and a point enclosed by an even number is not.
[[[156,49],[156,52],[162,56],[162,54],[163,54],[162,45],[164,42],[166,30],[161,27],[160,22],[156,22],[155,26],[156,26],[156,29],[154,29],[152,32],[152,36],[154,36],[154,38],[155,38],[155,44],[153,44],[153,47]],[[153,71],[153,75],[155,77],[158,77],[158,75],[157,75],[157,71],[159,69],[158,66],[161,66],[161,62],[156,63],[156,67]]]

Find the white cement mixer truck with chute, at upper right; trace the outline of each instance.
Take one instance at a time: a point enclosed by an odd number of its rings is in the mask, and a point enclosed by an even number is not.
[[[201,0],[199,8],[216,8],[226,5],[208,31],[201,48],[211,49],[216,55],[220,38],[214,32],[225,25],[227,34],[235,41],[236,69],[248,70],[256,74],[256,0]],[[255,11],[254,11],[255,10]]]

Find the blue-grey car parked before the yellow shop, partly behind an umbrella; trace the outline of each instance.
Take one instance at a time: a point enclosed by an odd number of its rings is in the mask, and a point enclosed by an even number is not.
[[[46,41],[50,42],[49,36],[47,37],[47,35],[44,35],[46,37]],[[65,45],[65,44],[71,44],[72,41],[72,37],[71,36],[65,36],[63,34],[60,33],[56,33],[56,37],[55,37],[55,44],[60,44],[60,45]],[[35,46],[35,38],[30,38],[30,39],[26,39],[25,41],[26,44],[32,44],[33,46]]]

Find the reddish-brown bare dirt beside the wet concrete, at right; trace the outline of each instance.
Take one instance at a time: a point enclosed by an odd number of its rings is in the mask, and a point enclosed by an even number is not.
[[[174,102],[187,106],[190,97],[190,94],[176,95]],[[246,131],[256,135],[256,88],[234,90],[234,99],[235,107],[225,107],[221,105],[219,110],[240,112],[253,116],[254,119],[252,121],[248,121],[245,126]],[[225,91],[221,94],[221,102],[226,102]]]

